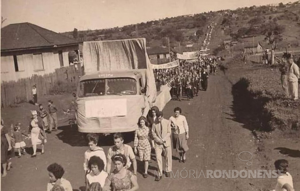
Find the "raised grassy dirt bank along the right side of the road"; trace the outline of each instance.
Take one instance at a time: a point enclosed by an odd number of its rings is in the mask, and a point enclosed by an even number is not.
[[[276,67],[227,60],[220,69],[232,84],[235,119],[256,138],[260,168],[273,170],[275,160],[287,159],[294,188],[299,188],[300,101],[284,97]],[[274,180],[255,180],[254,184],[268,190]]]

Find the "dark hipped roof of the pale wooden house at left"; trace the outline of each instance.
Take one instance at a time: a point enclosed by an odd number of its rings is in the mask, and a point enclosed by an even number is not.
[[[1,29],[1,51],[69,44],[78,44],[78,42],[28,22],[10,24]]]

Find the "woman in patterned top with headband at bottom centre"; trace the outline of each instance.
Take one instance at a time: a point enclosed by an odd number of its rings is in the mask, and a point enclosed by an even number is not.
[[[114,162],[115,170],[105,180],[104,190],[110,190],[111,186],[114,191],[135,191],[139,189],[137,176],[124,166],[127,159],[122,154],[116,154],[111,157]]]

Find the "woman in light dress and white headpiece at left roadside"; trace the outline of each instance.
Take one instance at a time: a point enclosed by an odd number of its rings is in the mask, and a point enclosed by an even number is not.
[[[37,118],[37,112],[31,111],[32,113],[32,121],[30,122],[31,126],[31,143],[32,143],[32,148],[33,148],[33,155],[31,157],[36,157],[36,146],[37,145],[42,145],[42,153],[44,154],[44,140],[43,136],[41,135],[41,129],[39,128],[38,125],[38,118]]]

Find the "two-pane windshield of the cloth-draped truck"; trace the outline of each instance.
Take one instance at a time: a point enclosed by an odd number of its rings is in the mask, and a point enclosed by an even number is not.
[[[78,97],[136,94],[137,81],[133,78],[84,80],[80,82],[78,88]]]

